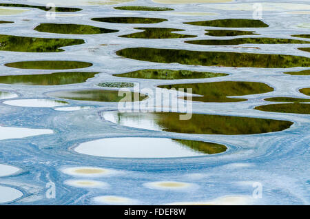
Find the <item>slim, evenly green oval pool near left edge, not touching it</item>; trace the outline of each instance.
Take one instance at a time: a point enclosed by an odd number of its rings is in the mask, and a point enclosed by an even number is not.
[[[16,63],[6,63],[5,65],[22,69],[63,70],[90,67],[92,63],[82,61],[19,61]]]

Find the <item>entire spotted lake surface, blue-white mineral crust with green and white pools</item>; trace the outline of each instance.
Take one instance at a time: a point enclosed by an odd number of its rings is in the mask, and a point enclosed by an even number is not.
[[[307,5],[40,3],[0,3],[0,204],[308,203]],[[124,87],[191,88],[192,118]]]

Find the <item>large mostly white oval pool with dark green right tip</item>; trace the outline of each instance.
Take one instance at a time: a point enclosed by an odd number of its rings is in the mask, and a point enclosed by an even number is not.
[[[103,138],[82,143],[80,154],[115,158],[174,158],[225,152],[225,145],[170,138]]]

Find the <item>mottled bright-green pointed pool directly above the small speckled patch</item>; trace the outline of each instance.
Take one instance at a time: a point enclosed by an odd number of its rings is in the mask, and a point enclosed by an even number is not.
[[[154,70],[145,69],[124,74],[114,74],[114,76],[136,79],[205,79],[218,76],[226,76],[228,74],[213,72],[193,72],[188,70]]]

